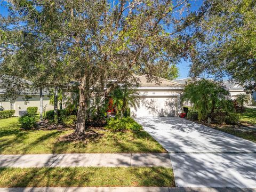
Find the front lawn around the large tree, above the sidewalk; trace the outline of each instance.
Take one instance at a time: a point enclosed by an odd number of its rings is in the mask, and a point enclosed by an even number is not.
[[[145,131],[94,130],[100,137],[87,142],[59,141],[73,130],[22,130],[18,117],[0,119],[0,154],[166,153]]]

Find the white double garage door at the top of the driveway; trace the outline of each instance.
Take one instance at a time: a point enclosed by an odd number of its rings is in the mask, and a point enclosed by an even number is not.
[[[140,106],[131,109],[135,117],[171,117],[177,111],[177,97],[145,97],[140,99]]]

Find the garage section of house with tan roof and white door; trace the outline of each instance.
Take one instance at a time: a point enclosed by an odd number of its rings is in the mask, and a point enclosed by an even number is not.
[[[181,110],[180,95],[183,85],[159,78],[160,84],[148,82],[146,76],[139,77],[138,92],[140,106],[131,108],[134,117],[178,116]]]

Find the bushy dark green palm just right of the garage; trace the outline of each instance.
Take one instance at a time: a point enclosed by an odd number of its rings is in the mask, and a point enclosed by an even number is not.
[[[213,117],[219,102],[226,100],[229,92],[221,84],[208,79],[188,82],[185,85],[182,100],[190,101],[198,110],[198,118],[204,120],[208,113]]]

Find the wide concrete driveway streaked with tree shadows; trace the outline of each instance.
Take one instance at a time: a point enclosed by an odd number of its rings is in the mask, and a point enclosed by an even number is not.
[[[169,151],[177,187],[256,188],[256,143],[178,117],[136,121]]]

